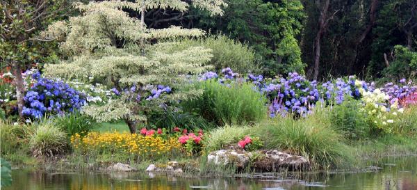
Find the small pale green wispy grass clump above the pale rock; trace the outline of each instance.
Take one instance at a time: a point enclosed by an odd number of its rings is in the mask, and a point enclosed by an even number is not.
[[[247,126],[229,126],[213,129],[208,136],[209,141],[206,142],[206,150],[214,151],[224,148],[224,145],[238,143],[245,135],[249,134],[250,127]]]

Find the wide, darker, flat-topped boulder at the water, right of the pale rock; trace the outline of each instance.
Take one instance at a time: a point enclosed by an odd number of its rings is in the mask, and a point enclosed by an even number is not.
[[[306,170],[310,166],[308,159],[278,150],[261,150],[258,155],[252,163],[257,171]]]

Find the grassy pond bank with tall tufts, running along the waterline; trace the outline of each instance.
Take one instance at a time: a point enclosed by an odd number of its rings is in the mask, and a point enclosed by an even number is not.
[[[314,118],[309,118],[314,120]],[[329,128],[322,120],[313,122],[303,120],[273,120],[259,123],[255,126],[227,126],[211,130],[206,139],[204,152],[219,150],[236,143],[242,136],[259,135],[263,142],[262,149],[277,149],[303,155],[313,162],[313,170],[360,170],[383,157],[417,155],[417,137],[385,135],[367,138],[361,141],[347,141],[341,134]],[[30,130],[30,129],[26,129]],[[105,129],[101,129],[102,133]],[[72,148],[65,155],[58,157],[35,158],[31,154],[30,140],[25,140],[24,134],[19,134],[17,126],[1,127],[2,141],[1,157],[10,161],[13,166],[58,170],[76,169],[95,171],[106,168],[117,162],[130,164],[145,171],[149,164],[164,167],[168,161],[178,161],[184,171],[202,175],[232,175],[236,168],[233,166],[214,166],[206,163],[206,156],[188,155],[179,152],[169,152],[163,157],[138,157],[138,155],[116,152],[115,150],[87,154],[77,152]],[[8,134],[8,135],[7,135]],[[263,135],[268,134],[268,135]],[[30,134],[26,134],[30,135]],[[26,137],[28,138],[28,137]],[[74,145],[74,144],[73,144]],[[252,173],[250,170],[240,172]]]

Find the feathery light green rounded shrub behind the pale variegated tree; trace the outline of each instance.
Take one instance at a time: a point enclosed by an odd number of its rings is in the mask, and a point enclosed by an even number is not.
[[[231,68],[235,72],[246,73],[258,70],[255,64],[255,53],[250,47],[224,35],[212,35],[208,38],[186,39],[177,44],[174,49],[186,49],[202,46],[212,49],[213,58],[209,62],[215,70]]]

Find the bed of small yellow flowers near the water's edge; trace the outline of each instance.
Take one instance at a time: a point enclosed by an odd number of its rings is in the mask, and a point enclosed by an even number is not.
[[[75,134],[71,137],[71,143],[74,150],[83,152],[124,152],[140,157],[157,157],[181,151],[181,143],[177,141],[177,138],[164,139],[158,135],[142,136],[117,132],[91,132],[84,137]]]

